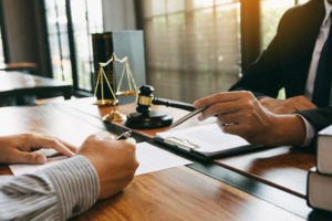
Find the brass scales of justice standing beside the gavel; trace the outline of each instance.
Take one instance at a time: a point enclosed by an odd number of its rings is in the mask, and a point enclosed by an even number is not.
[[[112,63],[112,74],[115,76],[115,63],[120,62],[123,63],[122,74],[118,81],[118,86],[116,92],[112,90],[111,83],[105,74],[104,67]],[[123,78],[126,74],[127,82],[128,82],[128,91],[120,91],[122,86]],[[115,78],[115,77],[114,77]],[[107,87],[114,97],[113,99],[105,99],[104,98],[104,81],[107,84]],[[104,122],[123,122],[125,120],[126,116],[117,110],[118,99],[117,96],[136,96],[138,93],[132,70],[129,67],[128,57],[125,56],[123,59],[118,59],[115,53],[113,53],[112,57],[105,62],[100,62],[100,71],[96,78],[95,90],[94,90],[94,97],[96,97],[98,85],[101,84],[101,99],[97,99],[94,104],[98,106],[113,106],[113,109],[103,117]]]

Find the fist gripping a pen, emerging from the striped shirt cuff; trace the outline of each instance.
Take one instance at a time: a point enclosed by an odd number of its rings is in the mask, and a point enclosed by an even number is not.
[[[79,154],[86,157],[97,171],[98,199],[114,196],[134,178],[138,167],[135,157],[135,140],[114,140],[108,133],[87,137]]]

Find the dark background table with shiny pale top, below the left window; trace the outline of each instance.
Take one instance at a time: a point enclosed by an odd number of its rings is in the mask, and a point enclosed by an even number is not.
[[[25,95],[35,96],[64,96],[71,98],[71,85],[41,76],[34,76],[21,72],[0,71],[0,97],[20,97]]]

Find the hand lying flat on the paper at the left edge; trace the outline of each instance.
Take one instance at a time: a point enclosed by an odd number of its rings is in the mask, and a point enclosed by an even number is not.
[[[32,134],[4,136],[0,137],[0,164],[45,164],[45,156],[31,152],[41,148],[53,148],[69,157],[76,151],[76,147],[54,137]]]

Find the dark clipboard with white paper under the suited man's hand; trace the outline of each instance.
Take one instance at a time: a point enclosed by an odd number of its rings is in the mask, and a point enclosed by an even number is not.
[[[239,136],[224,133],[216,123],[157,133],[154,140],[198,160],[263,149],[263,146],[253,146]]]

